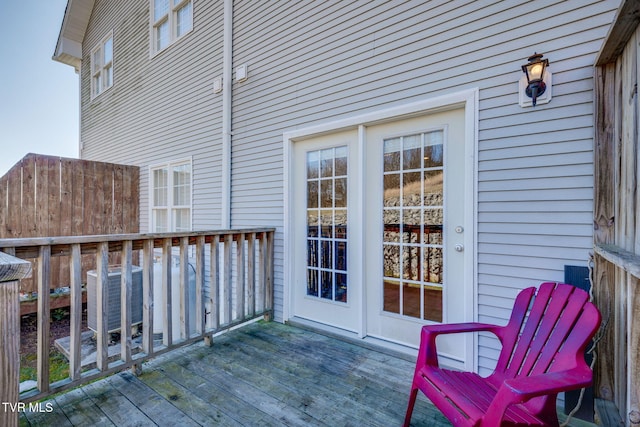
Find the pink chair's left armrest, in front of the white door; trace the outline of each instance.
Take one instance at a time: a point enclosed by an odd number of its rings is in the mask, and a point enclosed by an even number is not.
[[[477,322],[423,326],[420,334],[420,349],[418,350],[417,366],[438,366],[438,351],[436,349],[436,338],[438,335],[468,332],[492,332],[500,339],[500,341],[502,341],[500,331],[503,328],[504,326]]]

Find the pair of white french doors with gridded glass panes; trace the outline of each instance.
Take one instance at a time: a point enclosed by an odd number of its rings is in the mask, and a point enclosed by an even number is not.
[[[472,320],[473,200],[465,109],[293,144],[293,316],[410,347]],[[450,364],[468,337],[438,341]]]

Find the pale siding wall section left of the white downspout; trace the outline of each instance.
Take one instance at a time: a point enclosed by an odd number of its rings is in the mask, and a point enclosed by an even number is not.
[[[85,44],[108,29],[118,40],[118,83],[91,104],[89,67],[82,67],[81,157],[137,165],[192,158],[194,230],[221,224],[222,99],[211,77],[222,74],[222,2],[195,2],[194,22],[206,22],[179,44],[149,59],[149,3],[118,6],[96,0]],[[85,51],[88,63],[90,52]],[[180,78],[176,78],[180,76]],[[151,230],[149,174],[140,173],[140,230]]]

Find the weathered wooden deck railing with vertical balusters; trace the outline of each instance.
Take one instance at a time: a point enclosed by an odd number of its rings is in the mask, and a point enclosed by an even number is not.
[[[79,237],[51,237],[0,240],[0,250],[21,259],[37,259],[38,270],[38,355],[37,388],[20,395],[22,402],[39,400],[52,393],[133,367],[159,354],[204,339],[211,343],[212,335],[261,316],[270,318],[273,310],[273,229],[245,229],[164,234],[121,234]],[[136,351],[132,338],[132,259],[134,253],[142,264],[142,324],[141,348]],[[120,350],[117,360],[108,353],[108,280],[109,255],[120,254]],[[96,259],[95,271],[95,367],[81,366],[82,287],[81,258],[90,254]],[[69,377],[50,383],[50,316],[49,290],[52,257],[67,256],[71,271],[71,306],[69,337]],[[179,270],[173,270],[175,259]],[[161,260],[161,266],[157,261]],[[0,260],[1,261],[1,260]],[[156,266],[154,268],[154,261]],[[0,265],[0,271],[2,271]],[[178,268],[178,267],[175,267]],[[161,278],[154,278],[160,273]],[[193,272],[195,270],[195,272]],[[191,273],[191,274],[190,274]],[[178,283],[172,276],[178,274]],[[161,280],[161,287],[158,286]],[[195,281],[195,284],[193,283]],[[154,286],[155,284],[155,286]],[[172,298],[178,286],[179,298]],[[154,287],[161,295],[154,295]],[[192,288],[192,289],[190,289]],[[194,289],[195,288],[195,292]],[[195,295],[193,295],[195,293]],[[13,294],[11,294],[13,295]],[[43,297],[47,296],[47,297]],[[190,303],[195,300],[195,303]],[[2,303],[4,300],[0,300]],[[17,307],[18,295],[15,301]],[[162,340],[154,340],[154,305],[162,304]],[[179,305],[179,310],[174,305]],[[178,316],[176,316],[179,313]],[[190,311],[195,311],[193,316]],[[0,306],[0,325],[17,317],[5,318],[8,307]],[[157,316],[155,316],[157,317]],[[195,319],[191,324],[190,318]],[[157,319],[155,319],[157,320]],[[179,336],[174,323],[179,324]],[[14,327],[18,327],[15,326]],[[156,325],[157,329],[157,325]],[[13,345],[19,345],[19,334]],[[5,347],[0,348],[4,352]],[[1,358],[0,358],[1,360]],[[14,365],[11,365],[14,366]],[[3,375],[5,373],[3,372]],[[16,378],[16,377],[14,377]],[[2,409],[2,408],[0,408]]]

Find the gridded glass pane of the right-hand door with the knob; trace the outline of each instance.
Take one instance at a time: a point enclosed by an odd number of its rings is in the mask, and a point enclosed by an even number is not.
[[[386,312],[442,321],[442,130],[384,140]]]

